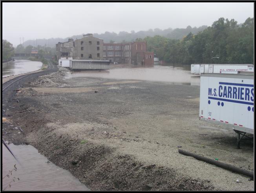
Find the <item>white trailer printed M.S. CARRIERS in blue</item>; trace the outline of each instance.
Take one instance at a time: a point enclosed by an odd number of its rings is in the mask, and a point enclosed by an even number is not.
[[[245,133],[254,134],[254,73],[206,73],[200,79],[199,119],[233,129],[240,148]]]

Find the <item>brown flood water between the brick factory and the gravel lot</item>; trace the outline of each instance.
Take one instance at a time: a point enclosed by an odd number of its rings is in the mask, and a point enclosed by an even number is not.
[[[190,65],[165,64],[154,67],[122,67],[102,71],[71,71],[66,78],[95,77],[146,80],[174,84],[200,85],[200,77],[190,74]]]

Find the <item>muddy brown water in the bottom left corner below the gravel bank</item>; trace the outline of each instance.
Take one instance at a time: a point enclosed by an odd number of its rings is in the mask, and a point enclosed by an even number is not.
[[[13,144],[8,145],[20,164],[9,153],[6,147],[2,148],[2,178],[14,168],[10,177],[2,179],[2,188],[6,191],[88,191],[79,180],[71,175],[69,171],[59,168],[49,162],[46,157],[38,153],[37,149],[30,145]],[[15,182],[13,182],[15,177]],[[19,178],[20,180],[18,180]],[[11,182],[11,187],[9,187]]]

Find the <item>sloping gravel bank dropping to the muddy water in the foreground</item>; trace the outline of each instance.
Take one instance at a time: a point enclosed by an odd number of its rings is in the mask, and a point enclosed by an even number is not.
[[[79,133],[77,133],[79,135]],[[132,155],[120,155],[115,148],[77,139],[45,127],[27,137],[28,142],[58,166],[92,190],[212,190],[207,181],[178,175],[174,169],[144,165]]]

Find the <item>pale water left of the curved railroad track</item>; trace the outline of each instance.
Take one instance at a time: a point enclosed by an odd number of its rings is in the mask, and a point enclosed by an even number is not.
[[[14,64],[2,66],[2,77],[29,73],[41,69],[42,62],[31,60],[15,60]]]

